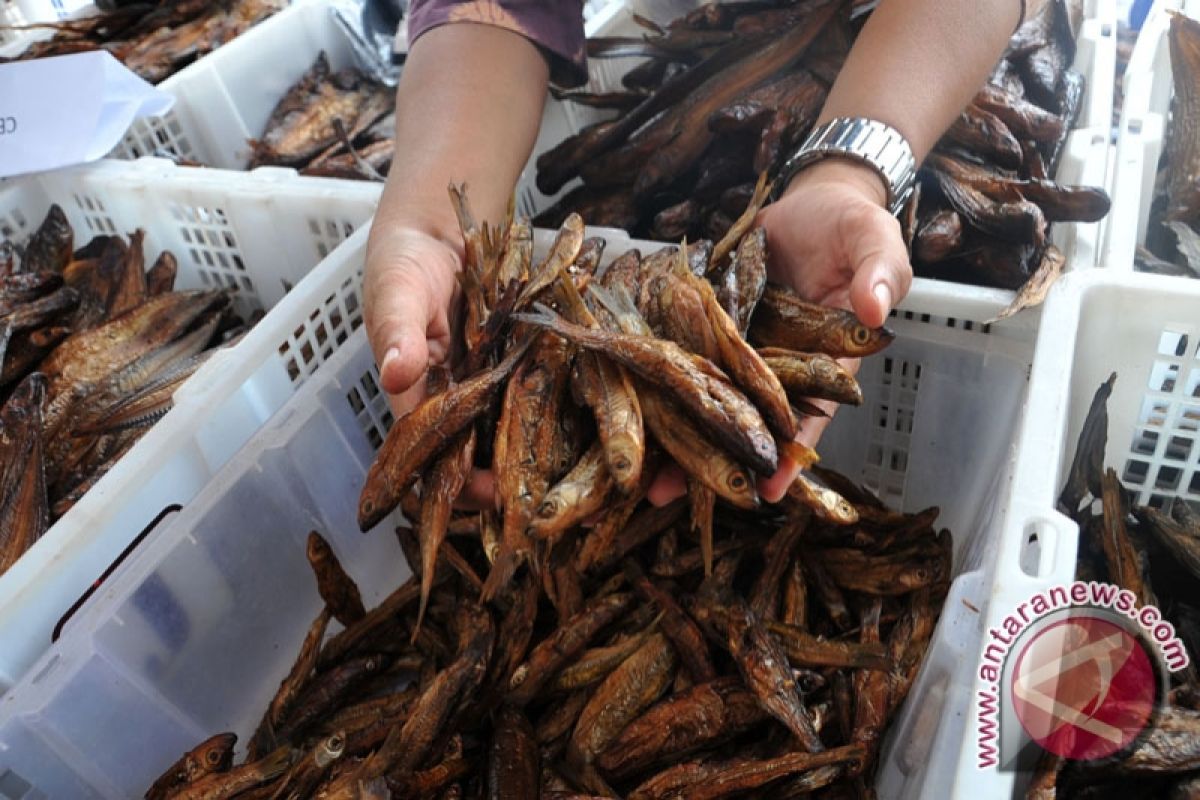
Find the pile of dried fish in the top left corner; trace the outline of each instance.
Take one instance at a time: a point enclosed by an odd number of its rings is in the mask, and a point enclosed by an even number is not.
[[[76,20],[36,23],[24,29],[50,28],[54,36],[0,62],[108,50],[142,78],[160,83],[284,5],[281,0],[160,0]]]

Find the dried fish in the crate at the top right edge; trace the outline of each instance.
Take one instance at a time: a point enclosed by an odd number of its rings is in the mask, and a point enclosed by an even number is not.
[[[1200,277],[1200,22],[1171,12],[1171,72],[1175,95],[1163,169],[1146,227],[1138,269]]]

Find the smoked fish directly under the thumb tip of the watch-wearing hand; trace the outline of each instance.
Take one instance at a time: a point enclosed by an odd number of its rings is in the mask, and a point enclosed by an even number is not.
[[[893,338],[888,329],[870,329],[848,311],[805,302],[790,289],[770,283],[750,323],[750,339],[760,347],[824,353],[835,359],[878,353]]]

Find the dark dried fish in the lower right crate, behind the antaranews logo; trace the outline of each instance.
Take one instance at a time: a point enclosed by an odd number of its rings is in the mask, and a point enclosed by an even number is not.
[[[1138,607],[1157,606],[1192,654],[1200,652],[1200,517],[1186,500],[1138,506],[1104,469],[1114,373],[1092,398],[1058,509],[1079,523],[1081,581],[1127,589]],[[1100,511],[1093,511],[1097,501]],[[1046,754],[1028,789],[1050,798],[1193,798],[1200,790],[1200,681],[1195,664],[1171,674],[1165,705],[1145,735],[1109,762]]]

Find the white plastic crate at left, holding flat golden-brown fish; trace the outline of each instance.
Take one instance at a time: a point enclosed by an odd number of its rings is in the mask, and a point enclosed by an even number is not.
[[[0,234],[24,241],[52,203],[66,211],[80,246],[97,234],[145,230],[148,263],[179,259],[178,288],[228,288],[247,314],[270,308],[373,212],[378,187],[338,186],[289,169],[193,170],[161,160],[101,162],[6,181]],[[358,308],[326,311],[330,337],[358,325]],[[336,320],[336,323],[335,323]],[[334,325],[337,327],[332,327]],[[311,373],[328,351],[322,331],[296,331],[286,348],[295,377],[256,365],[214,387],[210,359],[175,395],[176,408],[95,488],[0,576],[0,692],[50,644],[60,616],[162,509],[186,503]],[[281,359],[284,356],[281,356]],[[0,793],[2,795],[2,793]]]

